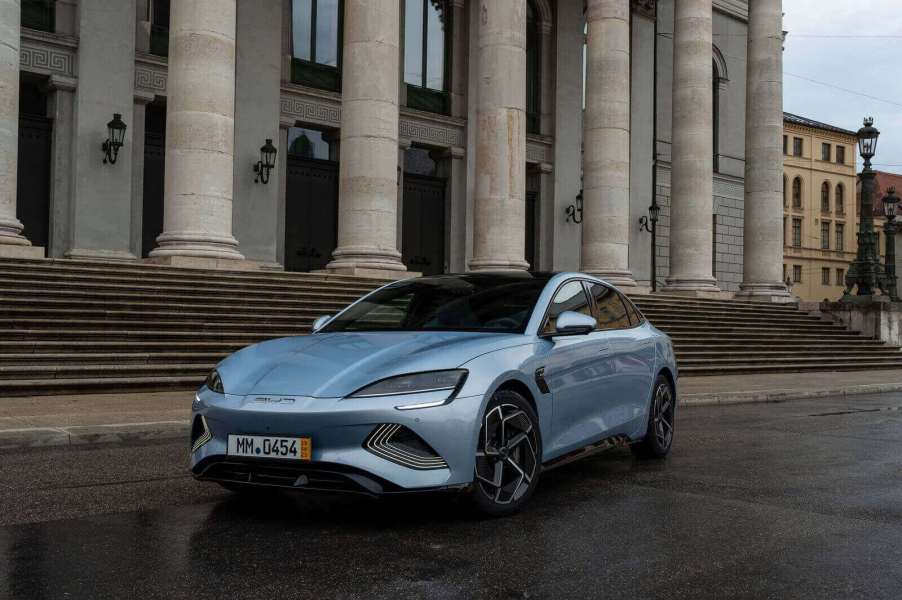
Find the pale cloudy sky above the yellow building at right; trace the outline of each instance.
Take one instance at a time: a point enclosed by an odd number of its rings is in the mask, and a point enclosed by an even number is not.
[[[783,0],[783,11],[783,109],[853,131],[874,117],[874,168],[902,173],[902,0]]]

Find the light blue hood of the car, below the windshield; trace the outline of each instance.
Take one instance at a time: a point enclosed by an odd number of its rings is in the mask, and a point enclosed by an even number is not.
[[[520,334],[340,332],[280,338],[236,352],[218,369],[227,394],[339,398],[403,373],[453,369]]]

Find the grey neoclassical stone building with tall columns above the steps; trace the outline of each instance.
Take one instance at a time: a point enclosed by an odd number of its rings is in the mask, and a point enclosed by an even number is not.
[[[648,286],[655,196],[664,289],[784,299],[781,25],[781,0],[0,0],[0,255]]]

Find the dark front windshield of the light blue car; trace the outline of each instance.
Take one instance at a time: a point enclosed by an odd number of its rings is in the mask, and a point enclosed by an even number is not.
[[[409,279],[370,294],[322,331],[523,333],[547,281],[527,274]]]

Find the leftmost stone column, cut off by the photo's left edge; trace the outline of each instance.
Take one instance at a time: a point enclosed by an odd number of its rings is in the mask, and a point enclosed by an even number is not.
[[[16,218],[19,156],[19,0],[0,0],[0,256],[43,256]]]

